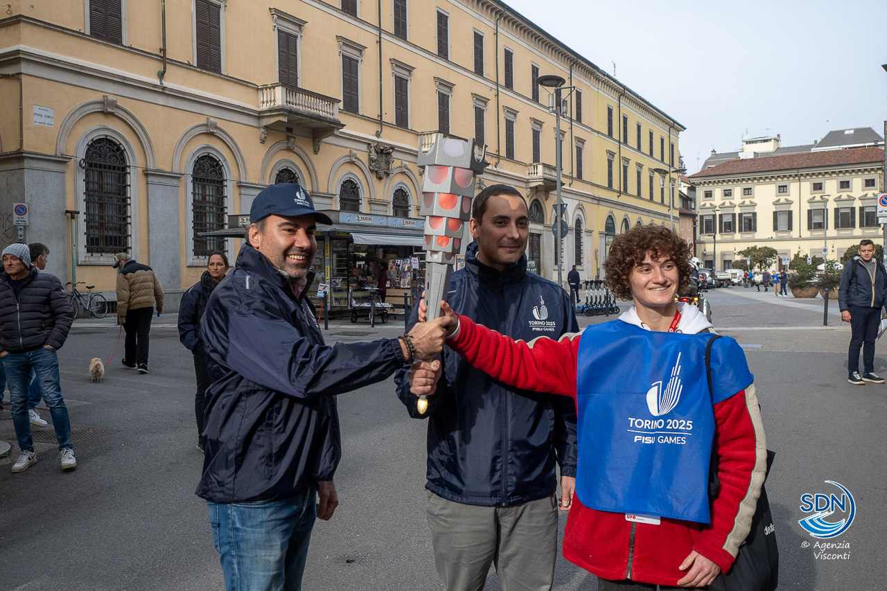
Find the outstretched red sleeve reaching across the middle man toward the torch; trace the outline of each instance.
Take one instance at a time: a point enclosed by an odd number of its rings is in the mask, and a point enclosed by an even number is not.
[[[468,363],[509,386],[576,398],[579,335],[567,333],[557,341],[540,336],[526,343],[459,316],[459,333],[447,344]]]

